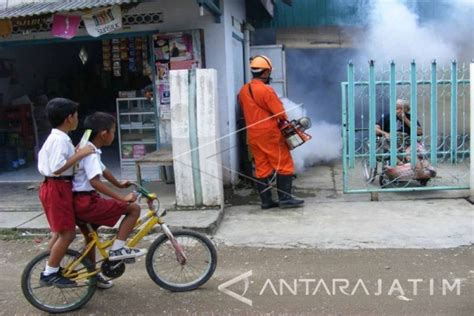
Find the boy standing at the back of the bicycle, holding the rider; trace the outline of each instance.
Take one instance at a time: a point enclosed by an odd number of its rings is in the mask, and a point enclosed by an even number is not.
[[[40,275],[43,286],[73,287],[76,282],[59,272],[59,264],[76,236],[72,198],[73,166],[94,151],[86,146],[75,152],[68,132],[77,128],[79,105],[71,100],[55,98],[46,105],[46,114],[53,127],[38,154],[38,170],[45,177],[39,190],[49,227],[53,233],[51,254]]]

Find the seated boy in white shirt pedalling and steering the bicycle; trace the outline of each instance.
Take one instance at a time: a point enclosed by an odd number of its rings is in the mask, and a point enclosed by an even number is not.
[[[95,148],[95,153],[81,160],[74,175],[73,192],[76,218],[90,223],[94,227],[100,225],[113,227],[120,217],[125,215],[120,223],[117,239],[109,251],[109,260],[116,261],[143,256],[146,254],[145,249],[125,246],[125,241],[140,216],[140,206],[133,203],[137,196],[134,193],[120,195],[101,181],[101,176],[103,176],[117,188],[130,186],[129,181],[118,181],[100,159],[102,153],[100,148],[110,146],[114,140],[115,118],[104,112],[95,112],[85,119],[84,128],[92,130],[89,144]],[[112,199],[105,199],[98,192]],[[90,237],[84,232],[83,230],[87,243]],[[90,252],[91,256],[94,256],[94,252]],[[90,259],[95,262],[95,258]]]

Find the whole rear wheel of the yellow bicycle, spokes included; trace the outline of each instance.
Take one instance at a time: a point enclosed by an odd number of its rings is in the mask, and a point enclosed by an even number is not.
[[[76,310],[86,304],[96,290],[96,276],[76,280],[77,286],[58,288],[55,286],[41,286],[40,273],[48,262],[50,252],[45,251],[37,255],[28,263],[21,276],[21,290],[25,298],[34,307],[48,313],[65,313]],[[65,267],[79,258],[81,254],[68,249],[60,266]],[[94,267],[87,258],[75,267],[76,272],[93,272]]]

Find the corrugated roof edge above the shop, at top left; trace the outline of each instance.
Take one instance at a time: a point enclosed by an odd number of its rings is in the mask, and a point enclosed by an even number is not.
[[[56,2],[23,3],[0,10],[0,19],[52,14],[56,12],[78,11],[133,2],[138,2],[138,0],[62,0]]]

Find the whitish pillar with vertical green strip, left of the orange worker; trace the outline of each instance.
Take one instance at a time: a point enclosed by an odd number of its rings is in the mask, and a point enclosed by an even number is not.
[[[217,72],[170,71],[170,93],[176,204],[222,208]]]

